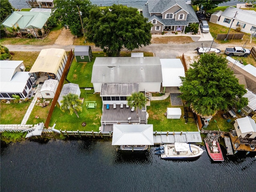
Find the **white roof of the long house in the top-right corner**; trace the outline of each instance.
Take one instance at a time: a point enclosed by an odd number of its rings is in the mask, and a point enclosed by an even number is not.
[[[238,14],[236,14],[236,11]],[[224,16],[227,18],[233,18],[235,14],[236,14],[235,20],[256,26],[256,11],[253,11],[253,10],[242,10],[235,7],[228,7],[226,8],[226,10],[224,10],[221,16]]]

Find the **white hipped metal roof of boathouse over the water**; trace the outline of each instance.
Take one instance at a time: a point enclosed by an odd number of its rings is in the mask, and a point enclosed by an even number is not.
[[[114,124],[112,145],[154,145],[152,124]]]

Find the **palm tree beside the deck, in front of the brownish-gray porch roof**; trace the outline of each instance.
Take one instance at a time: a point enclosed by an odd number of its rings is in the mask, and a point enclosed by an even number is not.
[[[134,107],[138,116],[138,108],[142,109],[146,105],[146,97],[142,92],[134,92],[126,98],[129,106]]]

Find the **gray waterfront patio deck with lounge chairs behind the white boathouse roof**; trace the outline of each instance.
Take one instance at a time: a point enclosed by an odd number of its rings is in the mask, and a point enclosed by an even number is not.
[[[126,108],[126,105],[123,108],[120,108],[120,105],[116,105],[116,108],[113,108],[112,104],[109,104],[109,109],[106,109],[106,104],[104,104],[104,110],[102,112],[102,125],[103,124],[128,124],[128,118],[130,118],[130,123],[138,123],[140,121],[141,124],[146,124],[146,111],[142,111],[138,109],[138,117],[136,114],[136,110],[134,112],[131,111],[131,108]],[[101,130],[103,131],[103,130]],[[105,130],[104,130],[105,131]],[[109,130],[108,130],[109,131]]]

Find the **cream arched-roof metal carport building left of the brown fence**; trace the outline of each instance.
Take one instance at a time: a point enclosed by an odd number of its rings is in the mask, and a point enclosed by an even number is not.
[[[48,74],[49,78],[60,81],[67,59],[68,57],[64,49],[42,49],[30,69],[30,73],[32,73],[35,78],[38,78],[40,72],[45,72]]]

